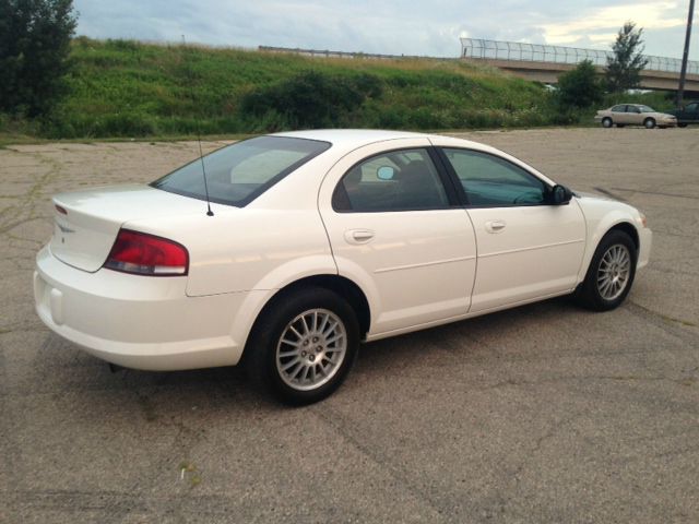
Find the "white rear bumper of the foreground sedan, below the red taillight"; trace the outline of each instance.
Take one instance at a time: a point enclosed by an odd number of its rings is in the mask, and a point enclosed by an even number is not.
[[[187,277],[87,273],[48,248],[34,273],[42,321],[98,358],[157,371],[237,364],[245,341],[232,326],[248,293],[188,297],[186,286]]]

